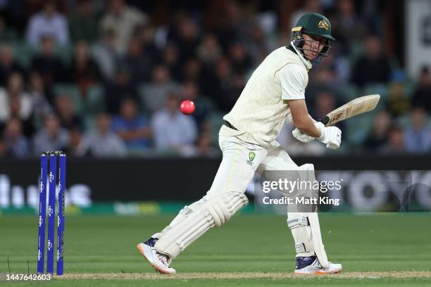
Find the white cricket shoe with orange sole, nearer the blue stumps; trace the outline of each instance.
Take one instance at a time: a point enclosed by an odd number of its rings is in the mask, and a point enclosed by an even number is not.
[[[168,256],[158,253],[156,248],[154,248],[154,244],[156,244],[157,240],[157,238],[151,237],[144,243],[139,243],[137,245],[139,252],[145,257],[146,260],[148,260],[148,262],[150,262],[151,265],[153,265],[154,268],[156,268],[156,271],[164,274],[177,273],[175,269],[169,267]]]

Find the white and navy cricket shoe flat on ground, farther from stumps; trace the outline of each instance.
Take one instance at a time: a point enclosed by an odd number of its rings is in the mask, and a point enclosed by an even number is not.
[[[294,274],[334,274],[343,269],[342,264],[328,263],[328,267],[323,267],[316,256],[296,257]]]

